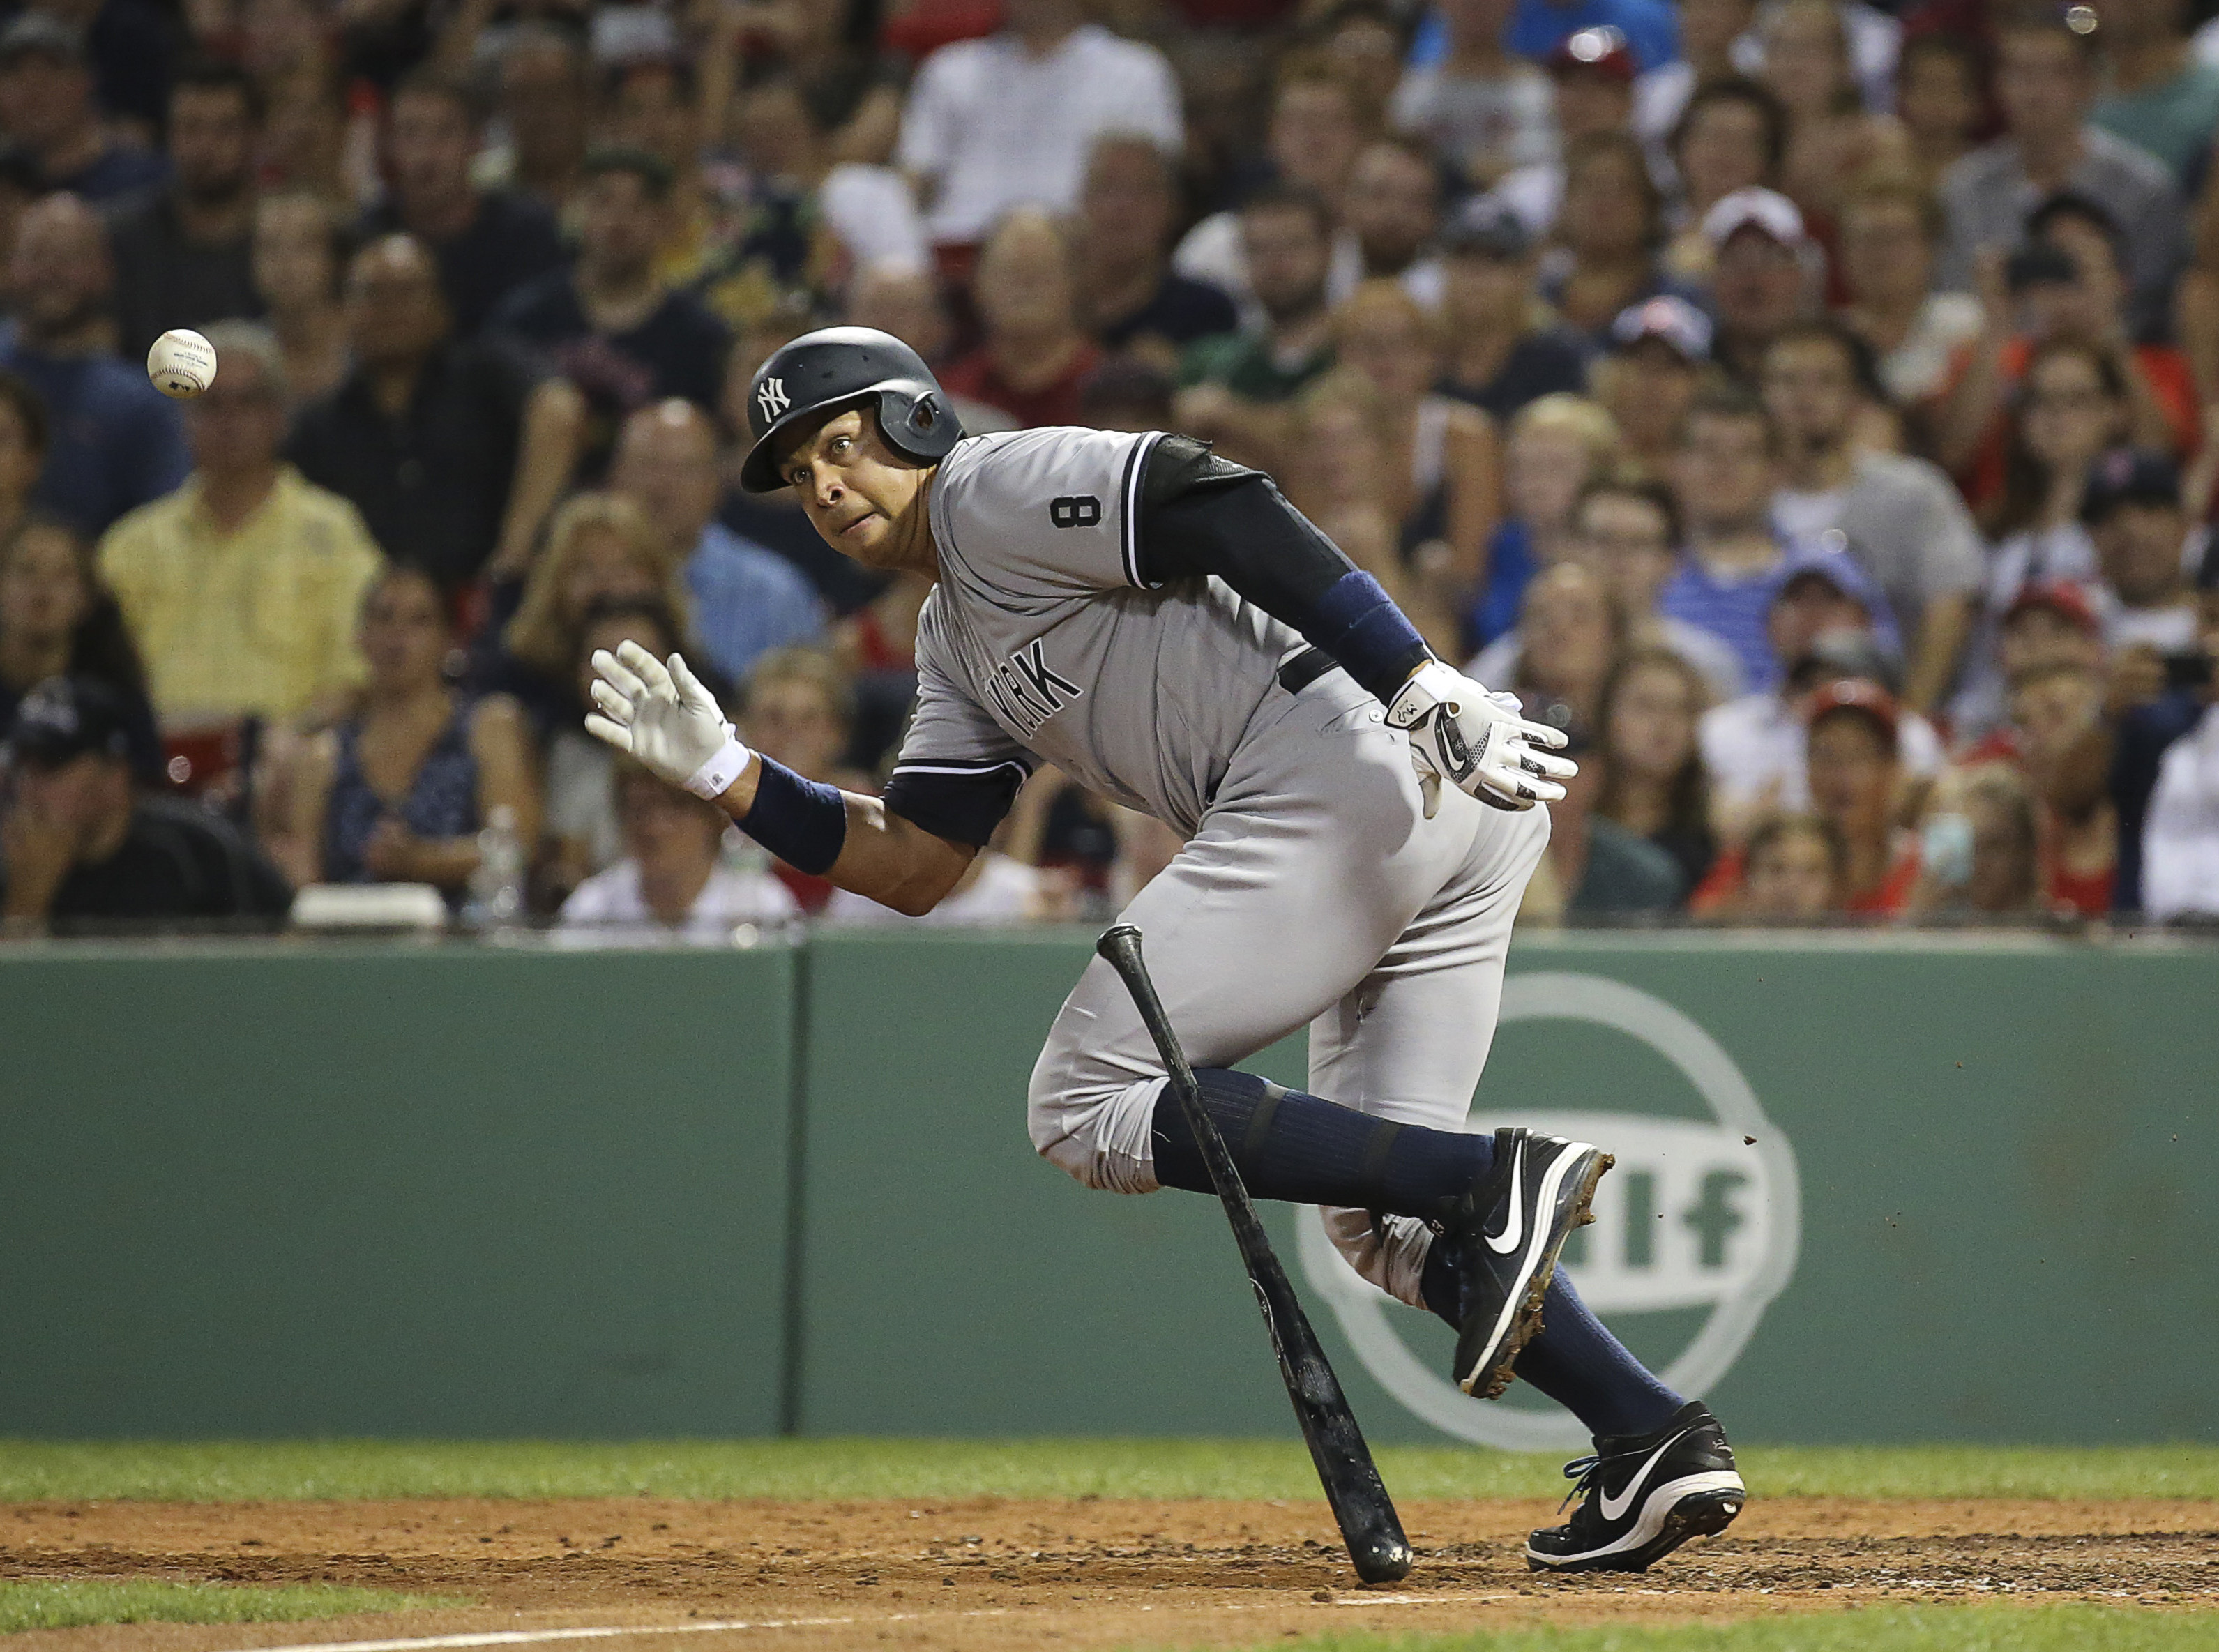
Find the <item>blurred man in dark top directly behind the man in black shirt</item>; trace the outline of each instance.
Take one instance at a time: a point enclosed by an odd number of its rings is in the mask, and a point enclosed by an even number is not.
[[[386,120],[393,195],[362,220],[364,239],[406,231],[433,251],[439,288],[464,339],[504,297],[564,262],[546,206],[470,182],[479,137],[468,86],[435,69],[411,73],[393,91]]]

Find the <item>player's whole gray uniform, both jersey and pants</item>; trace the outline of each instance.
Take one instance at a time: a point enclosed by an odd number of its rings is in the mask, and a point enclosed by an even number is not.
[[[1345,672],[1280,685],[1300,634],[1216,577],[1147,588],[1134,532],[1156,441],[1019,430],[941,461],[941,579],[888,807],[983,843],[999,814],[948,796],[1007,807],[1045,758],[1154,814],[1189,843],[1125,918],[1149,936],[1187,1056],[1232,1067],[1309,1024],[1316,1093],[1458,1129],[1549,816],[1427,796],[1380,703]],[[1147,1191],[1161,1091],[1147,1029],[1096,958],[1034,1067],[1032,1142],[1090,1186]],[[1420,1302],[1422,1222],[1331,1211],[1327,1226],[1365,1279]]]

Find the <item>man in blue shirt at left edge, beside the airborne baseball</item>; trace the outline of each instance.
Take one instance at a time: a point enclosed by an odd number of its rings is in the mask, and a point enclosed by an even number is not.
[[[75,195],[49,195],[22,215],[9,257],[13,335],[0,368],[47,406],[47,468],[33,499],[82,534],[184,481],[178,408],[135,361],[109,350],[109,239]]]

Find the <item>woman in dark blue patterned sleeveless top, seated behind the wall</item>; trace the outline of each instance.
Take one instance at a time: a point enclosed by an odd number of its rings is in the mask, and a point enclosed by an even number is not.
[[[510,809],[539,840],[539,785],[524,710],[464,698],[444,676],[455,645],[439,585],[397,563],[362,603],[362,705],[308,747],[282,840],[295,883],[428,883],[457,896],[477,871],[477,829]]]

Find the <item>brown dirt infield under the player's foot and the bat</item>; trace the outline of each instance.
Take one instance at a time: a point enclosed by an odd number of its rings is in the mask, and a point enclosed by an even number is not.
[[[2219,1605],[2210,1501],[1760,1499],[1731,1534],[1646,1577],[1536,1579],[1518,1546],[1551,1508],[1407,1503],[1418,1570],[1382,1590],[1356,1588],[1323,1503],[1096,1499],[20,1503],[0,1506],[0,1577],[326,1581],[484,1603],[315,1623],[42,1630],[9,1636],[9,1652],[220,1652],[473,1632],[521,1641],[615,1625],[641,1634],[590,1636],[592,1645],[1014,1652],[1258,1645],[1358,1625],[1722,1619],[1906,1599]],[[655,1628],[666,1634],[648,1639]]]

